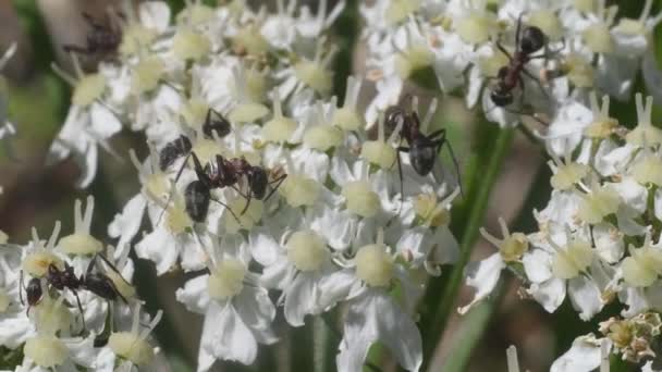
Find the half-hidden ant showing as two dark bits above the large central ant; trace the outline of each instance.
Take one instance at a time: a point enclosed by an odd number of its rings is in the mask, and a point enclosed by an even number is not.
[[[212,113],[214,117],[211,116]],[[221,113],[213,109],[207,110],[207,117],[205,119],[205,123],[203,123],[203,134],[205,137],[213,138],[216,135],[218,138],[222,138],[230,134],[230,122]],[[159,153],[159,168],[161,171],[166,171],[175,160],[188,154],[192,148],[191,139],[184,135],[168,142]]]

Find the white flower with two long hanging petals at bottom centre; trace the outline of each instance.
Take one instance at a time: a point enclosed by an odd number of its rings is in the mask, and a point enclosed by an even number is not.
[[[405,310],[417,298],[419,288],[391,255],[380,231],[376,243],[357,247],[351,268],[326,276],[320,283],[320,306],[347,301],[336,357],[339,370],[360,370],[370,345],[377,340],[387,345],[404,369],[418,371],[422,363],[420,334]],[[401,282],[405,288],[405,309],[387,290],[392,281]]]

